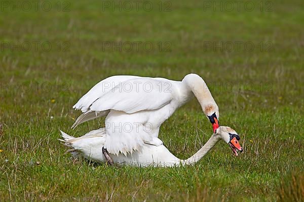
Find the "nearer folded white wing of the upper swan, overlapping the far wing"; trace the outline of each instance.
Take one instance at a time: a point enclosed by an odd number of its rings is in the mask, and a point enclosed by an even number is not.
[[[128,114],[159,109],[172,100],[169,80],[134,78],[113,87],[90,106],[90,111],[123,111]]]

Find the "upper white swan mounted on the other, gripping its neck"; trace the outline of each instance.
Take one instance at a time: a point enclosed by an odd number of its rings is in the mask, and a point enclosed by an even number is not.
[[[122,75],[108,77],[73,106],[83,114],[72,128],[106,116],[105,154],[107,151],[114,155],[121,152],[126,156],[139,150],[144,143],[162,145],[158,138],[161,124],[193,94],[215,132],[219,127],[218,107],[205,81],[197,74],[188,74],[182,81]]]

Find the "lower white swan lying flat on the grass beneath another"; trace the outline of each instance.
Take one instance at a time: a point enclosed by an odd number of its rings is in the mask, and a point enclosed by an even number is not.
[[[70,147],[67,151],[72,153],[74,157],[83,156],[84,158],[105,163],[107,160],[102,152],[102,147],[106,142],[106,130],[100,128],[93,130],[81,137],[72,137],[61,131],[63,139],[59,139]],[[209,138],[204,146],[192,157],[187,160],[180,160],[175,157],[164,145],[151,145],[144,143],[133,154],[126,156],[119,153],[118,155],[109,154],[113,163],[118,165],[133,165],[133,166],[155,166],[155,167],[172,167],[180,165],[189,165],[198,162],[204,157],[208,151],[220,140],[227,142],[233,153],[238,156],[237,150],[243,151],[239,140],[240,137],[235,130],[227,126],[220,126],[215,133]]]

